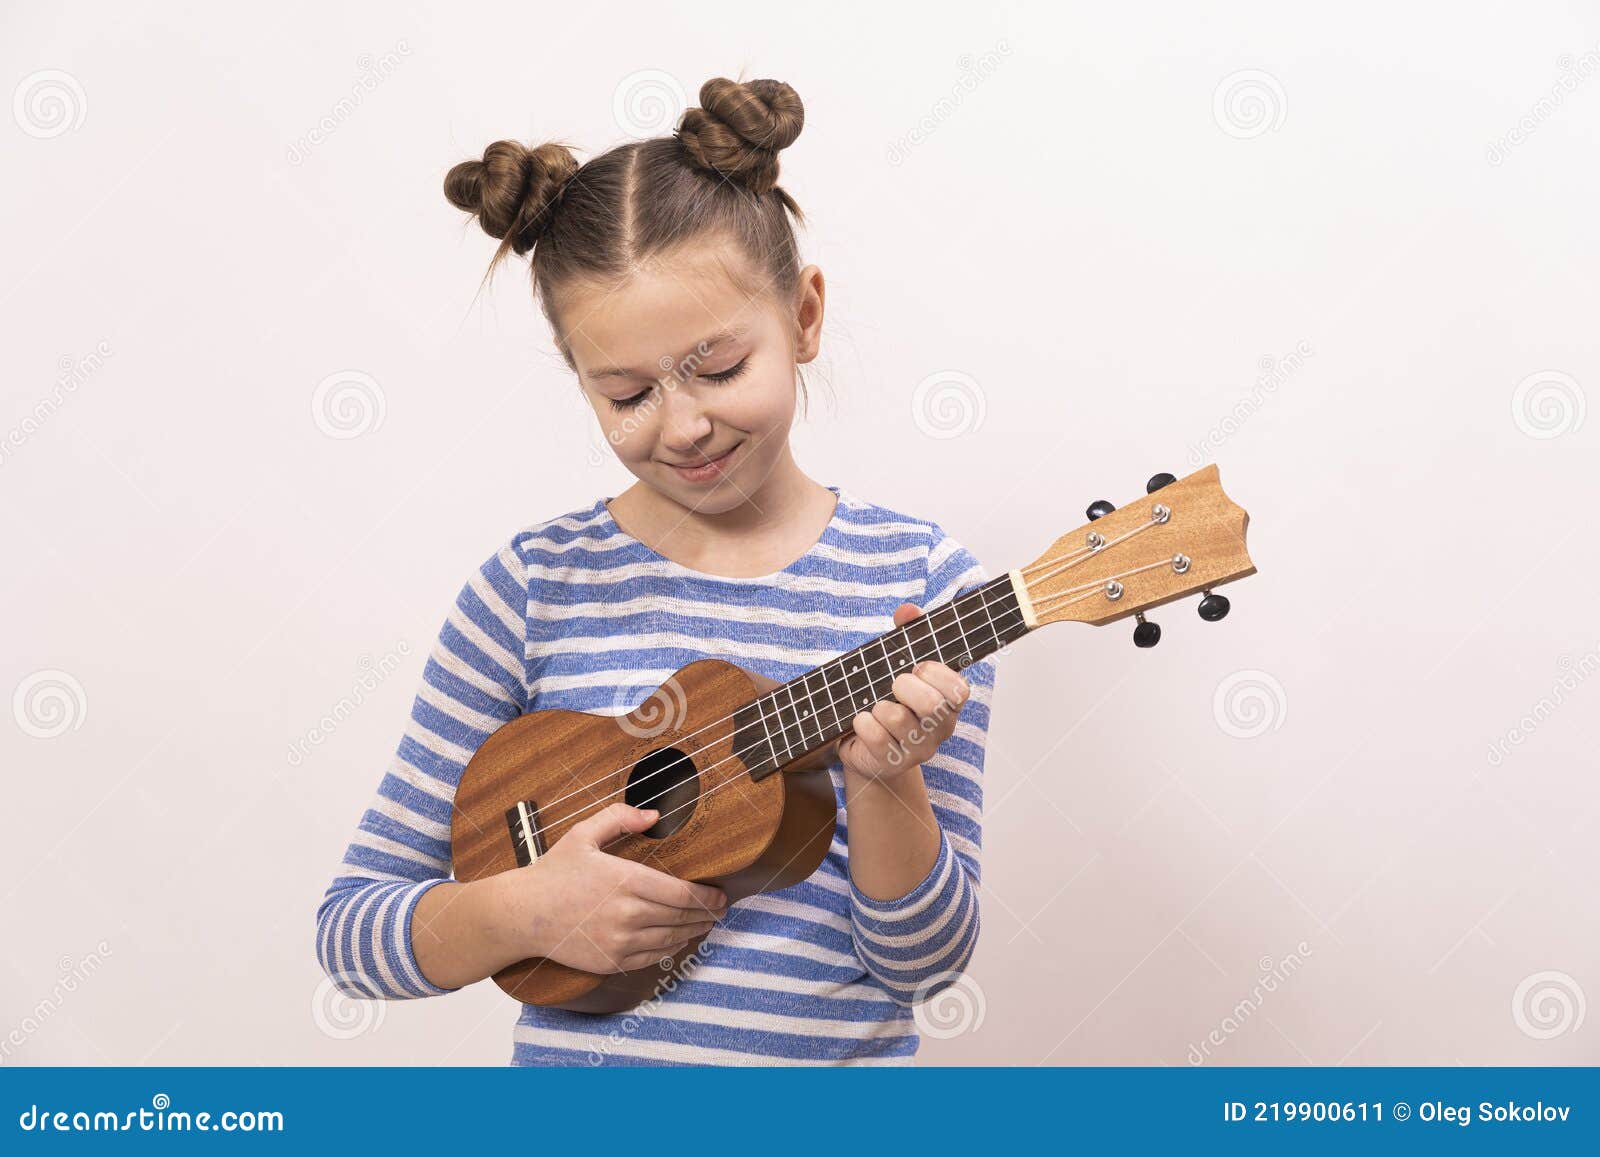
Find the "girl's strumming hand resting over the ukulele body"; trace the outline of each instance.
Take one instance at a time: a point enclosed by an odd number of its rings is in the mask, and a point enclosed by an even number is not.
[[[611,803],[533,864],[502,874],[510,925],[526,957],[589,973],[629,971],[675,955],[726,915],[720,888],[603,851],[656,818],[654,808]]]

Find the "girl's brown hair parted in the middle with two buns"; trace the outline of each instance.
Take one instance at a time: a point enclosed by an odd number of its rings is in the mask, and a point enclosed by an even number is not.
[[[691,240],[731,238],[760,270],[752,294],[792,298],[805,221],[778,187],[778,154],[794,144],[805,106],[781,80],[707,80],[701,107],[672,136],[630,141],[579,165],[562,142],[496,141],[483,160],[445,174],[445,197],[501,245],[485,282],[509,254],[533,251],[533,291],[555,344],[573,365],[555,301],[573,282],[621,282],[638,262]]]

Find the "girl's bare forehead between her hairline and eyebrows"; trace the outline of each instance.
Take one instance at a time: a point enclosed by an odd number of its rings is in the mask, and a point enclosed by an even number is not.
[[[611,286],[574,288],[562,320],[578,371],[587,378],[613,376],[613,370],[656,378],[670,368],[662,358],[694,354],[702,339],[754,333],[765,304],[749,285],[747,262],[738,254],[702,250],[651,259]]]

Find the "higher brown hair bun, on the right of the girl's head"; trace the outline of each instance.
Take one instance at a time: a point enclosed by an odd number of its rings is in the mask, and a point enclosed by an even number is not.
[[[800,94],[784,82],[717,77],[701,85],[701,107],[685,109],[677,138],[702,168],[760,195],[778,184],[778,154],[803,125]]]

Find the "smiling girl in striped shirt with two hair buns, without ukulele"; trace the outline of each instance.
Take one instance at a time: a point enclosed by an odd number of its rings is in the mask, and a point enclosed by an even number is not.
[[[608,855],[656,818],[619,800],[528,867],[450,880],[461,771],[518,714],[622,714],[702,658],[787,682],[987,579],[936,523],[795,462],[824,286],[776,182],[803,107],[776,80],[699,98],[672,136],[582,166],[562,144],[496,141],[445,179],[502,238],[490,272],[533,251],[557,347],[637,482],[517,531],[467,579],[318,909],[317,954],[344,994],[406,999],[533,955],[638,968],[709,930],[640,1010],[523,1005],[512,1063],[906,1064],[914,1008],[978,943],[989,661],[922,663],[898,703],[854,717],[830,765],[834,843],[798,885],[728,906]]]

